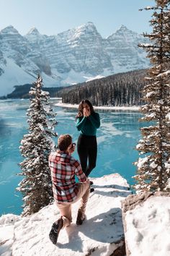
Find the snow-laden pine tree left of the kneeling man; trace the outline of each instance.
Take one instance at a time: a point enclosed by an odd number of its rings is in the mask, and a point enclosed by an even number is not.
[[[54,127],[56,114],[49,105],[49,93],[42,90],[42,78],[37,77],[31,88],[30,108],[27,109],[29,133],[24,135],[20,152],[24,161],[19,163],[24,176],[17,190],[22,192],[24,205],[22,216],[36,213],[53,200],[48,155],[53,148],[52,137],[57,136]]]

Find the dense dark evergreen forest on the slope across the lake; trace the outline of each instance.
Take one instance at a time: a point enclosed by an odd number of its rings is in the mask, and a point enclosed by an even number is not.
[[[140,106],[146,69],[113,74],[102,79],[72,85],[56,93],[63,103],[89,99],[94,106]]]

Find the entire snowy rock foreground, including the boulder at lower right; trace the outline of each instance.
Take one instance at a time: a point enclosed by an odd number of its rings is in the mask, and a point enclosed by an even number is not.
[[[57,245],[48,238],[52,223],[59,217],[55,205],[29,217],[1,216],[0,255],[170,255],[168,193],[131,195],[127,181],[120,174],[91,180],[95,191],[90,194],[82,226],[75,224],[79,202],[73,205],[73,223],[61,230]]]

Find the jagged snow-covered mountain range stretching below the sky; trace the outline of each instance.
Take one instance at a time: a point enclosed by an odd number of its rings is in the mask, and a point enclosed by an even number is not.
[[[102,38],[92,22],[50,36],[35,27],[25,36],[6,27],[0,31],[0,95],[11,93],[14,85],[34,82],[38,73],[45,87],[55,87],[146,68],[149,61],[138,48],[143,40],[123,25]]]

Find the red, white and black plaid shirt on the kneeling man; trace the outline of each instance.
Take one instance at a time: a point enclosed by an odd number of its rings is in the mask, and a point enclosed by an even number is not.
[[[79,182],[87,181],[79,161],[64,152],[52,152],[49,155],[49,166],[54,199],[57,202],[73,202],[79,192],[75,174]]]

